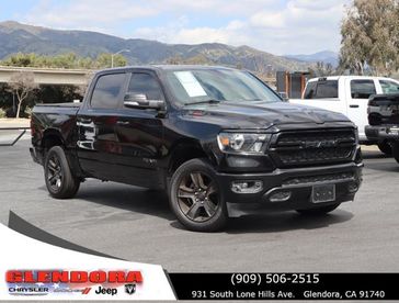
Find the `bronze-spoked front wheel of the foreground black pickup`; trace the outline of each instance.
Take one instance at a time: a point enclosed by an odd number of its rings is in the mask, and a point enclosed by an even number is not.
[[[192,159],[173,173],[171,209],[180,223],[195,232],[215,232],[227,223],[227,207],[214,168],[206,159]]]

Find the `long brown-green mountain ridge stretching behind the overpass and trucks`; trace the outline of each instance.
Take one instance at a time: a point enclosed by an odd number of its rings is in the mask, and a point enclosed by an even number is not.
[[[0,58],[19,52],[41,55],[73,52],[79,56],[95,57],[100,53],[129,49],[123,55],[130,65],[164,64],[173,58],[189,61],[201,58],[210,64],[240,66],[261,72],[307,70],[312,65],[312,60],[305,57],[276,56],[249,46],[236,47],[220,43],[166,44],[89,31],[53,30],[15,21],[0,22]]]

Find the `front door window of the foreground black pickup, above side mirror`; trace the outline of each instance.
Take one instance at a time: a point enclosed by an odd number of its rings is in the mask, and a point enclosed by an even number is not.
[[[132,74],[127,91],[133,94],[145,94],[148,100],[163,100],[161,87],[149,74]]]

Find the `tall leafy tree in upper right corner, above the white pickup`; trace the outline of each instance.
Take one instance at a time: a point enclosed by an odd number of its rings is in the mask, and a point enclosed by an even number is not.
[[[341,25],[340,67],[364,75],[399,68],[399,1],[354,0]]]

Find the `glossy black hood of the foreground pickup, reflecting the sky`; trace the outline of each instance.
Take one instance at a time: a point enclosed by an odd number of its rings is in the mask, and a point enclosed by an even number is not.
[[[269,128],[273,125],[350,122],[343,114],[287,102],[220,102],[184,108],[184,119],[204,120],[229,128]]]

